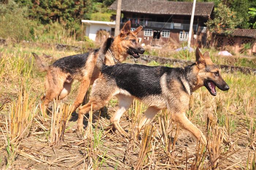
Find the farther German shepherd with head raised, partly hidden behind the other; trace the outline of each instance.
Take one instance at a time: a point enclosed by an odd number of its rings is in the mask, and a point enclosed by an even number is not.
[[[139,26],[134,31],[131,31],[131,22],[128,21],[124,24],[121,33],[114,38],[113,43],[106,53],[104,64],[114,65],[124,61],[128,54],[134,58],[139,58],[139,54],[144,53],[144,49],[139,44],[137,34],[142,30]],[[39,71],[47,71],[45,79],[45,95],[41,97],[42,107],[46,109],[49,102],[54,98],[65,98],[70,90],[74,79],[81,82],[78,95],[74,102],[73,112],[83,102],[84,95],[89,86],[96,80],[100,71],[95,67],[98,59],[99,49],[93,50],[89,53],[77,54],[74,56],[67,56],[55,61],[52,65],[45,66],[42,61],[33,53]]]

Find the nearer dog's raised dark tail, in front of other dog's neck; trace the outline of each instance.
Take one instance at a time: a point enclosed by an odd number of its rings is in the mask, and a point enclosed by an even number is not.
[[[100,70],[102,70],[102,68],[105,66],[104,59],[106,56],[106,52],[110,48],[110,45],[112,44],[113,40],[114,40],[114,38],[112,38],[112,37],[107,38],[106,41],[104,42],[104,44],[101,46],[101,49],[99,49],[96,67],[98,67]]]

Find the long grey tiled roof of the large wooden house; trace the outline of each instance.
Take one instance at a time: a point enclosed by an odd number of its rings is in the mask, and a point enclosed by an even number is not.
[[[167,0],[122,0],[121,11],[144,14],[191,15],[192,2]],[[213,2],[197,2],[195,16],[210,16]],[[117,0],[110,5],[110,10],[116,10]]]

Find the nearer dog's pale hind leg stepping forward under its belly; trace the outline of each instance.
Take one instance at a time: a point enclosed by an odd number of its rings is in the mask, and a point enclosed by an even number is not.
[[[113,127],[124,137],[127,137],[127,133],[124,131],[124,129],[120,126],[119,121],[121,116],[124,114],[124,112],[129,109],[129,107],[132,105],[133,97],[125,96],[122,94],[116,95],[118,99],[118,109],[116,113],[110,118],[110,122],[112,123]]]

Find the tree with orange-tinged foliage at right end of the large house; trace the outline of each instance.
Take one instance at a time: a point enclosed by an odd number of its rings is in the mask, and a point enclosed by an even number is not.
[[[241,23],[241,19],[236,17],[236,12],[231,11],[223,3],[219,3],[214,9],[214,19],[209,19],[206,26],[210,32],[220,34],[230,34],[237,25]]]

